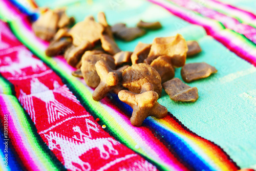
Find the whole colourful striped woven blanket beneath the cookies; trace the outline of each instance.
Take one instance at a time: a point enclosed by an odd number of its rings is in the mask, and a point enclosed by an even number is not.
[[[1,0],[0,170],[255,169],[256,4],[242,2]],[[117,40],[120,49],[180,33],[203,50],[186,62],[207,62],[218,73],[189,83],[199,90],[195,103],[163,92],[167,117],[132,126],[132,109],[117,95],[94,101],[62,56],[45,55],[49,42],[31,29],[44,6],[67,6],[77,22],[99,11],[111,25],[159,20],[162,29]]]

